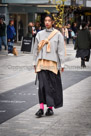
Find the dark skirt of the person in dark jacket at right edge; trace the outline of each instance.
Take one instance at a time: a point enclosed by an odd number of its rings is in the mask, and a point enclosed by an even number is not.
[[[84,61],[89,61],[89,59],[90,59],[90,49],[87,49],[87,50],[77,50],[76,57],[77,58],[80,57]]]

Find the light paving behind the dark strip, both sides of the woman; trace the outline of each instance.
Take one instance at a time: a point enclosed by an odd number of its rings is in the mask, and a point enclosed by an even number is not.
[[[8,56],[7,51],[0,52],[0,93],[33,82],[36,74],[32,66],[32,53],[22,53],[16,45],[18,57]],[[65,71],[91,71],[91,60],[85,69],[80,67],[80,59],[75,58],[73,44],[67,45]]]

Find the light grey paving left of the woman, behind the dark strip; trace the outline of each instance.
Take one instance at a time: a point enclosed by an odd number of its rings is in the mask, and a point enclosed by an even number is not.
[[[22,86],[35,80],[32,66],[32,53],[23,53],[15,44],[18,56],[8,56],[7,51],[0,52],[0,93]]]

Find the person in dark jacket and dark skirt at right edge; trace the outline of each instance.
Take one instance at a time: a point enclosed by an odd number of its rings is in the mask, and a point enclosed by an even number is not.
[[[91,35],[85,22],[82,23],[82,30],[78,32],[75,49],[77,50],[76,57],[81,58],[81,67],[86,67],[85,61],[90,59]]]

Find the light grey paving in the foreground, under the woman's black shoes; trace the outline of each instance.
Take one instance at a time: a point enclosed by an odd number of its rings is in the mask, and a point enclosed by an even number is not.
[[[91,136],[91,77],[64,91],[64,107],[36,118],[36,105],[0,125],[0,136]]]

